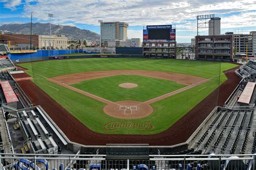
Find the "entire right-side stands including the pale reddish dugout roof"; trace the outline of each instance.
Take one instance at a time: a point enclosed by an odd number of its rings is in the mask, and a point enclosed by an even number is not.
[[[238,87],[225,103],[218,107],[198,128],[190,148],[202,153],[251,154],[255,153],[255,77],[256,62],[248,61],[236,70],[242,78]],[[250,89],[250,90],[248,90]],[[203,130],[202,130],[203,129]]]

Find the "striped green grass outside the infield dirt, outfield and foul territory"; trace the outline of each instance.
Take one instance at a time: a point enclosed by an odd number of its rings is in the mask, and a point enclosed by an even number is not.
[[[226,80],[224,70],[235,67],[226,62],[207,62],[190,60],[165,60],[165,59],[132,59],[132,58],[104,58],[104,59],[72,59],[49,60],[20,64],[28,68],[26,72],[33,77],[33,81],[49,94],[55,101],[67,109],[89,129],[99,133],[113,134],[154,134],[163,132],[183,117],[195,105],[202,101],[214,89]],[[140,119],[118,119],[103,112],[104,103],[90,97],[76,93],[70,89],[49,82],[46,77],[65,75],[78,72],[91,72],[96,70],[157,70],[181,74],[195,75],[211,79],[210,82],[200,84],[179,94],[152,103],[154,111],[151,115]],[[100,79],[98,79],[100,81]],[[104,82],[103,82],[104,83]],[[107,82],[106,82],[107,83]],[[163,85],[162,85],[163,86]],[[53,87],[53,88],[52,88]],[[58,90],[56,90],[56,89]],[[116,93],[107,91],[113,96]],[[139,96],[139,95],[138,95]],[[213,101],[214,102],[214,101]],[[123,128],[117,131],[107,131],[104,124],[110,121],[124,123],[150,122],[154,127],[149,131],[138,128]],[[97,123],[95,123],[97,122]]]

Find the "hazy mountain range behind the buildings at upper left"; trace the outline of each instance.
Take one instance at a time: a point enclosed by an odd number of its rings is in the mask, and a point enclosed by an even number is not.
[[[5,33],[13,34],[30,34],[30,23],[26,24],[5,24],[0,26],[0,30]],[[96,41],[100,39],[100,35],[89,31],[81,30],[76,26],[69,25],[55,25],[51,24],[51,33],[57,35],[64,35],[71,40],[89,40]],[[32,34],[37,35],[49,35],[50,34],[50,24],[49,23],[33,23],[32,24]]]

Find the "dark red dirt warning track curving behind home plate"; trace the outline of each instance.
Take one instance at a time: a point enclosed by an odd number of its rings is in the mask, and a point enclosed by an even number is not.
[[[18,81],[18,83],[33,104],[41,105],[52,120],[73,142],[83,145],[125,143],[167,146],[185,142],[216,105],[224,104],[240,81],[233,70],[225,73],[228,78],[226,82],[214,90],[213,93],[208,95],[205,100],[196,105],[184,117],[166,131],[152,135],[101,134],[93,132],[30,80]],[[218,101],[213,102],[216,101],[216,98],[218,98]]]

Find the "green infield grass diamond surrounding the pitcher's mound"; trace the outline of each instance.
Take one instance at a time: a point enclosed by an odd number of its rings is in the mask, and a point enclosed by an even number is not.
[[[136,88],[122,88],[121,83],[136,83]],[[72,84],[72,87],[103,97],[112,102],[139,101],[145,102],[152,98],[186,87],[173,81],[161,80],[139,75],[117,75],[93,79]],[[113,95],[114,94],[114,95]]]

